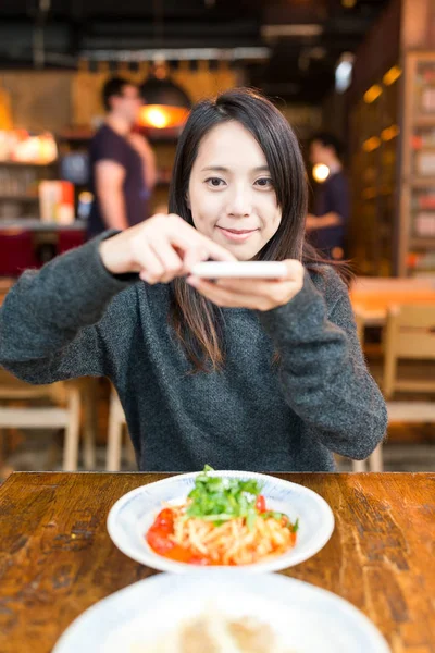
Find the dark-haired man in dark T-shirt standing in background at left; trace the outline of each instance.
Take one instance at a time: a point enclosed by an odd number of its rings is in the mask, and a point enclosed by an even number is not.
[[[137,86],[113,77],[104,84],[102,99],[108,114],[89,149],[95,197],[89,237],[107,229],[125,230],[146,220],[156,183],[153,152],[148,141],[133,132],[141,106]]]

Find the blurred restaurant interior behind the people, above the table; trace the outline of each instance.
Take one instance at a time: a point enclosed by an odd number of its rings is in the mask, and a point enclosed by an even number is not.
[[[422,334],[434,319],[434,3],[16,1],[0,15],[1,297],[23,270],[86,241],[89,141],[104,120],[108,78],[130,79],[148,98],[138,130],[156,157],[151,214],[167,210],[189,108],[235,86],[258,88],[298,135],[311,205],[328,171],[311,165],[310,138],[324,131],[344,144],[350,296],[371,372],[390,402],[388,438],[371,463],[435,469],[433,336],[407,350],[387,328],[400,305],[426,307],[420,323],[409,318]],[[0,396],[3,478],[135,468],[105,379],[33,387],[3,370]]]

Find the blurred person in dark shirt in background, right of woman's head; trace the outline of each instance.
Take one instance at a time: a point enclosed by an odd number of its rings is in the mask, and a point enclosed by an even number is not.
[[[313,214],[307,215],[309,241],[322,256],[340,260],[345,252],[346,226],[349,220],[349,184],[343,170],[343,146],[332,134],[319,133],[311,140],[312,165],[323,163],[330,175],[319,184]]]

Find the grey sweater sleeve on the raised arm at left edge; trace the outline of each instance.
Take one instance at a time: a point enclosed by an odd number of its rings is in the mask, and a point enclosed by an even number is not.
[[[111,299],[137,275],[122,280],[102,264],[99,243],[26,271],[0,308],[0,364],[28,383],[105,375],[98,322]],[[126,275],[127,276],[127,275]]]

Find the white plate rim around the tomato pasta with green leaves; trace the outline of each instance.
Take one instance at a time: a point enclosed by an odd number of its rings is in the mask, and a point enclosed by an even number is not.
[[[299,519],[296,545],[287,553],[263,563],[245,565],[251,572],[276,571],[298,565],[318,553],[334,530],[334,516],[327,503],[312,490],[249,471],[213,471],[212,476],[256,479],[262,483],[261,493],[268,508]],[[195,569],[158,555],[148,545],[145,534],[162,509],[163,503],[182,504],[195,485],[198,472],[185,473],[137,488],[122,496],[109,513],[108,530],[116,546],[128,557],[161,571],[185,574]],[[221,567],[222,568],[222,567]]]

